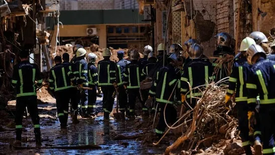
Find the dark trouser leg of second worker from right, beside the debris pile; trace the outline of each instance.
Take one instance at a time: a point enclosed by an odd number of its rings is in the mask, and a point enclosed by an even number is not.
[[[240,137],[242,140],[242,147],[245,150],[245,154],[252,154],[250,149],[250,137],[248,127],[248,105],[247,102],[236,102],[236,109],[238,114],[238,129],[240,130]]]

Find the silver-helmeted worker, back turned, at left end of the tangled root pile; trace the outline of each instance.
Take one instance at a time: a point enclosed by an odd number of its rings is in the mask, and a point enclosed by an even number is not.
[[[186,94],[190,90],[187,82],[190,83],[191,88],[209,84],[209,80],[213,79],[213,69],[212,64],[209,61],[204,61],[202,59],[203,49],[199,44],[193,44],[189,48],[188,55],[191,61],[183,68],[183,75],[181,77],[181,98],[185,105],[185,99],[187,99],[189,105],[194,108],[196,106],[197,99],[191,98],[190,94]],[[198,89],[194,89],[192,90],[192,96],[201,97],[202,93]],[[187,105],[186,107],[189,108]]]

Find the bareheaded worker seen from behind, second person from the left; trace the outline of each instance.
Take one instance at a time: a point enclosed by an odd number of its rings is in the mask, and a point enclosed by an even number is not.
[[[50,69],[50,90],[56,98],[57,115],[62,129],[67,128],[69,102],[71,95],[71,81],[75,79],[73,72],[69,69],[69,63],[62,64],[62,58],[54,58],[55,66]]]

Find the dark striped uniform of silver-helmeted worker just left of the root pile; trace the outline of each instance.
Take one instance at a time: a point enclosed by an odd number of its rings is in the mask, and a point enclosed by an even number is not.
[[[203,59],[193,59],[184,66],[181,77],[181,93],[186,95],[187,102],[192,108],[195,107],[197,99],[191,99],[190,93],[186,94],[190,90],[187,82],[190,83],[191,88],[209,84],[210,80],[213,79],[212,73],[212,64]],[[202,92],[198,89],[192,90],[192,96],[200,97],[202,96]],[[190,103],[191,101],[192,103]]]

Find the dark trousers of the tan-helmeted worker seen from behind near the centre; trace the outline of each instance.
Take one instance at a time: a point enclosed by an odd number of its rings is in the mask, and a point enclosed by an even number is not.
[[[112,112],[113,109],[114,98],[112,98],[112,94],[115,89],[113,86],[107,86],[101,87],[101,90],[103,92],[103,96],[105,97],[103,103],[104,117],[109,118],[109,114]]]

